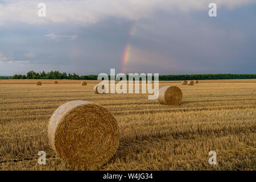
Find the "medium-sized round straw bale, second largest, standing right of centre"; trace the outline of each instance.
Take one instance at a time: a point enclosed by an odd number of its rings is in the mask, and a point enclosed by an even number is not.
[[[182,92],[177,86],[163,86],[159,89],[158,101],[165,105],[179,105],[182,101]]]

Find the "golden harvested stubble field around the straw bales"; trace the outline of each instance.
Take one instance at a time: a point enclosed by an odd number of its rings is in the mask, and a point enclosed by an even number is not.
[[[199,81],[160,82],[183,92],[180,105],[160,105],[147,94],[94,94],[98,81],[0,80],[0,170],[69,170],[49,146],[47,125],[73,100],[102,105],[117,119],[118,151],[101,170],[256,170],[256,80]],[[208,164],[209,151],[217,165]]]

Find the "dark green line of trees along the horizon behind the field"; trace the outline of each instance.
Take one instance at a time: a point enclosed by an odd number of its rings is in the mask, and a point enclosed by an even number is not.
[[[59,71],[39,72],[30,71],[27,75],[0,76],[1,79],[67,79],[67,80],[97,80],[97,75],[79,76],[76,73],[60,73]],[[128,76],[127,76],[128,78]],[[219,79],[252,79],[256,74],[201,74],[201,75],[159,75],[159,80],[219,80]],[[154,76],[152,77],[154,79]]]

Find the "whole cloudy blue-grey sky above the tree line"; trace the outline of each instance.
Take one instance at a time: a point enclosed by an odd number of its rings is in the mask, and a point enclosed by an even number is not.
[[[256,73],[256,0],[0,0],[0,75],[110,68]]]

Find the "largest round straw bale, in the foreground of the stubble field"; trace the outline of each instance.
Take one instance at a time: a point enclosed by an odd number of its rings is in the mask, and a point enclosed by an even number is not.
[[[114,115],[88,101],[71,101],[52,114],[49,144],[73,169],[97,169],[108,162],[119,144]]]

